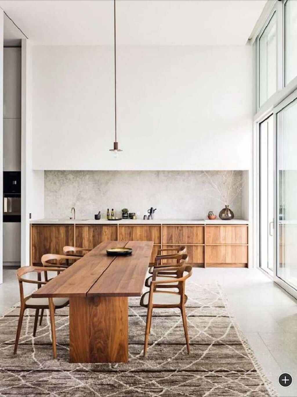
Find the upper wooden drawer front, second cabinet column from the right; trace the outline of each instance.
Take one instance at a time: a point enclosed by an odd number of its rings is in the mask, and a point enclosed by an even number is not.
[[[204,244],[204,226],[163,225],[163,244]]]

